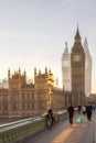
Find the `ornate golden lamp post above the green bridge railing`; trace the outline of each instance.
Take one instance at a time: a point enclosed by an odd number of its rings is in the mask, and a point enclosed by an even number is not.
[[[51,70],[47,73],[47,86],[49,86],[49,102],[47,102],[47,108],[52,108],[53,106],[53,101],[52,101],[52,95],[53,95],[53,85],[54,85],[54,80],[53,80],[53,74],[51,73]]]

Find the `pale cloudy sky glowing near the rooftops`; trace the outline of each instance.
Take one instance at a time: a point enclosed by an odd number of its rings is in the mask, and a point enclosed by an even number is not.
[[[33,78],[34,67],[47,67],[62,87],[62,54],[65,42],[71,51],[77,23],[93,57],[96,92],[96,0],[0,0],[0,79],[9,68]]]

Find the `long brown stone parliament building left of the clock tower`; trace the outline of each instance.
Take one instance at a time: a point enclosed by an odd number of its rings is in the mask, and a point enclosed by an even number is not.
[[[65,108],[64,91],[54,87],[52,95],[55,111]],[[42,114],[47,110],[49,87],[47,68],[42,74],[34,68],[34,84],[26,82],[26,73],[21,70],[11,74],[8,72],[8,89],[0,89],[0,117],[2,118],[30,118]]]

